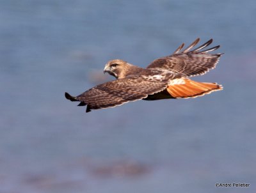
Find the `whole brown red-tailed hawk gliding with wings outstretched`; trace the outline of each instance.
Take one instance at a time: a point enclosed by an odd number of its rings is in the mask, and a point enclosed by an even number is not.
[[[184,50],[182,43],[172,55],[152,61],[147,68],[131,65],[121,59],[111,60],[106,64],[104,73],[116,77],[115,81],[99,84],[78,96],[65,93],[65,97],[79,101],[78,106],[87,105],[86,112],[90,112],[91,109],[115,107],[140,99],[195,98],[221,90],[220,84],[189,79],[214,68],[222,54],[209,53],[220,45],[202,50],[212,43],[212,39],[193,49],[199,40],[197,38]]]

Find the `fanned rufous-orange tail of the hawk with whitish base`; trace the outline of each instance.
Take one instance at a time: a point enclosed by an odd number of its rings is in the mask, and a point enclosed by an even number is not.
[[[217,83],[196,82],[190,79],[174,79],[168,85],[167,91],[173,98],[195,98],[221,89],[223,89],[222,86]]]

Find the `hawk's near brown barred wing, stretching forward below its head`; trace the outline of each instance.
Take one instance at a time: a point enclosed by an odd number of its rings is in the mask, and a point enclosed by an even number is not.
[[[147,98],[148,95],[166,89],[167,81],[150,81],[140,78],[125,78],[106,82],[85,91],[76,97],[65,93],[68,100],[80,101],[80,106],[87,105],[86,112],[91,109],[115,107],[126,102]]]

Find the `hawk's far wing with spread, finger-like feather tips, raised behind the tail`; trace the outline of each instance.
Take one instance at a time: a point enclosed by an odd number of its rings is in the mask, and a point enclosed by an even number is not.
[[[191,50],[199,40],[197,38],[189,47],[180,52],[184,47],[184,43],[182,43],[172,55],[154,60],[147,68],[162,68],[184,77],[202,75],[208,72],[210,69],[215,68],[222,54],[209,54],[208,52],[218,49],[220,45],[202,50],[212,43],[211,39],[196,49]]]

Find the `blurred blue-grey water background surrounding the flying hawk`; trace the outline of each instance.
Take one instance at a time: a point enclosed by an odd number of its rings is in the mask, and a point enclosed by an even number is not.
[[[255,192],[255,1],[0,1],[0,192]],[[85,113],[110,59],[210,38],[224,90]],[[216,188],[215,183],[250,183]]]

